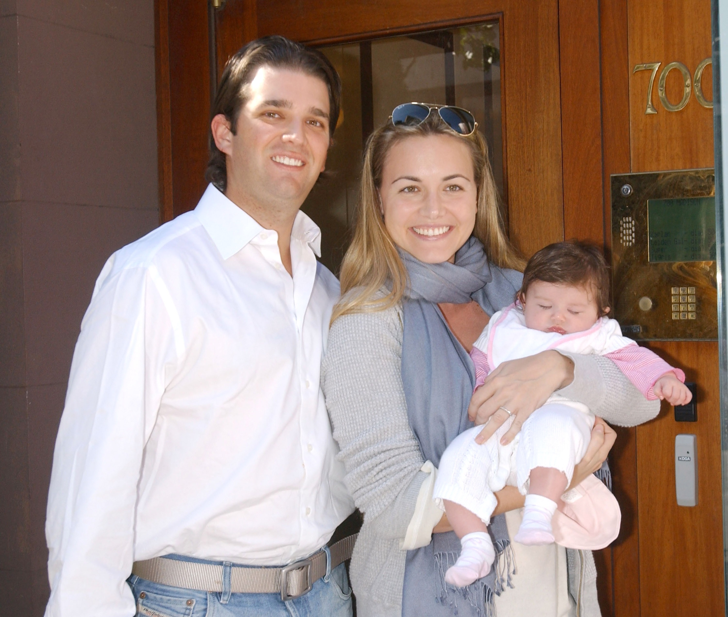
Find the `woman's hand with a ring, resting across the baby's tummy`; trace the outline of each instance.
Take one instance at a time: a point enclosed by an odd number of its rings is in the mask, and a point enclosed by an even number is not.
[[[470,421],[486,425],[475,441],[486,442],[510,415],[514,415],[513,424],[501,439],[503,445],[512,442],[526,418],[554,391],[568,386],[571,381],[574,381],[574,362],[558,351],[542,351],[534,356],[502,362],[470,399],[467,410]]]

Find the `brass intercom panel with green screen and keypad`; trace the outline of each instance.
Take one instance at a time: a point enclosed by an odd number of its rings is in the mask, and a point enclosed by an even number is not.
[[[612,176],[612,292],[626,336],[718,338],[712,169]]]

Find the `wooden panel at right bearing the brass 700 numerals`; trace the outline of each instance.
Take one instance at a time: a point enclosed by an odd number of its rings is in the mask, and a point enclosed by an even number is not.
[[[701,102],[692,84],[711,57],[708,0],[617,0],[601,2],[604,204],[609,217],[609,175],[713,167],[712,67],[701,76]],[[686,92],[676,67],[660,91],[670,63],[687,67]],[[651,70],[638,65],[660,63]],[[680,77],[678,79],[678,74]],[[652,86],[652,89],[650,89]],[[647,100],[657,113],[647,109]],[[667,106],[663,103],[667,100]],[[614,458],[615,486],[628,514],[612,548],[614,615],[723,615],[724,554],[718,344],[713,341],[649,343],[697,383],[697,423],[676,422],[663,404],[659,417],[637,429],[620,430]],[[676,503],[676,434],[697,434],[697,506]]]

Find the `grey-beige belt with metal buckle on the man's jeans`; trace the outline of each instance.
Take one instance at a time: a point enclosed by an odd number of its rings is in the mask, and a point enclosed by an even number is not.
[[[328,547],[331,552],[331,570],[352,557],[357,533]],[[293,600],[309,592],[313,584],[326,575],[326,552],[321,549],[304,560],[282,568],[248,568],[233,565],[230,568],[230,592],[234,594],[277,594],[281,600]],[[152,583],[197,589],[200,592],[223,591],[224,566],[154,557],[134,562],[132,574]]]

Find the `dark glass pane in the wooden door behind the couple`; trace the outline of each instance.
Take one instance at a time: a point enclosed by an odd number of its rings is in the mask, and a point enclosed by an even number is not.
[[[363,143],[400,103],[455,105],[470,111],[490,149],[505,203],[497,20],[322,47],[341,76],[339,127],[321,178],[303,210],[323,231],[321,260],[336,272],[349,240]],[[504,220],[507,220],[505,206]]]

